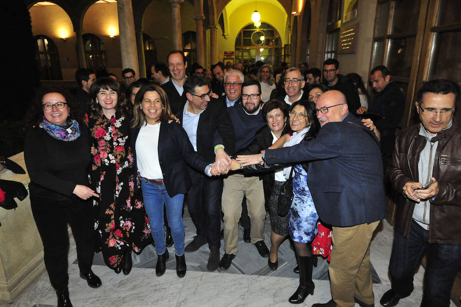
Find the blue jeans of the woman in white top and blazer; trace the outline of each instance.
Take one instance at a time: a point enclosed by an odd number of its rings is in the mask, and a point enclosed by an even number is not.
[[[150,182],[145,178],[141,178],[141,188],[145,212],[149,216],[157,254],[162,255],[166,249],[163,229],[163,204],[165,204],[166,217],[175,243],[176,255],[182,256],[184,254],[184,224],[182,223],[184,194],[170,197],[164,185]]]

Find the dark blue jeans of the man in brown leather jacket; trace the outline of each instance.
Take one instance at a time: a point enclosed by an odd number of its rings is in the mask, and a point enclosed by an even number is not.
[[[392,289],[399,297],[406,297],[413,291],[414,272],[427,251],[421,305],[449,306],[451,288],[461,266],[461,244],[436,244],[428,240],[429,231],[414,220],[408,238],[395,230],[389,264]]]

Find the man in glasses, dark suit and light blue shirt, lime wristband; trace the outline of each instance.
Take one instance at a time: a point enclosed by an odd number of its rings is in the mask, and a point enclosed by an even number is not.
[[[215,100],[210,98],[212,91],[201,77],[187,78],[183,88],[187,100],[177,115],[182,127],[194,150],[206,161],[216,161],[218,171],[227,173],[231,159],[224,150],[234,151],[235,136],[226,108],[217,101],[211,102]],[[207,177],[193,168],[189,168],[189,172],[192,186],[187,191],[187,207],[197,235],[184,251],[195,252],[208,243],[210,253],[206,267],[208,271],[215,271],[219,267],[221,247],[222,178]]]

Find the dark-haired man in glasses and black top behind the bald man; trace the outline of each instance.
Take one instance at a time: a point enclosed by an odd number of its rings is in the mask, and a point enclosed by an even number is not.
[[[349,112],[355,114],[360,107],[359,92],[354,83],[339,74],[339,62],[336,59],[327,59],[323,62],[324,84],[329,90],[337,90],[346,96]]]

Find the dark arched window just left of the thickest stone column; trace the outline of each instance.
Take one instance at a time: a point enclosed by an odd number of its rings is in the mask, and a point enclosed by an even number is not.
[[[100,72],[107,69],[107,53],[104,43],[94,34],[82,35],[83,46],[85,46],[85,59],[87,67],[93,71]]]

